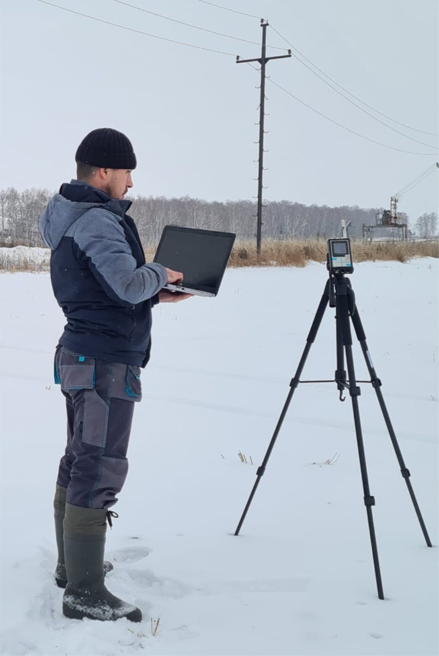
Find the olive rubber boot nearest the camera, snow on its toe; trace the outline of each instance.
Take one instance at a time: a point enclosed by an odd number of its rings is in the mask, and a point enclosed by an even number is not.
[[[107,511],[66,504],[64,555],[68,584],[62,612],[72,619],[140,622],[140,609],[107,590],[104,585],[104,546]]]

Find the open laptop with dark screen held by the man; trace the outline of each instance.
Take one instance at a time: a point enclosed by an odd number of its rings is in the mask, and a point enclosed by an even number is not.
[[[154,262],[181,271],[184,279],[163,289],[217,296],[235,237],[232,232],[165,226]]]

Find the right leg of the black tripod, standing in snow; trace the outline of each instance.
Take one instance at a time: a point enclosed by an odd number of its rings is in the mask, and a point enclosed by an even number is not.
[[[377,374],[373,367],[372,359],[369,354],[369,349],[367,348],[366,335],[364,333],[362,321],[360,319],[360,316],[356,308],[354,310],[354,314],[352,314],[352,323],[354,324],[355,333],[358,338],[358,341],[360,342],[364,359],[366,360],[367,370],[369,371],[373,388],[375,389],[375,393],[377,394],[378,403],[381,407],[381,412],[383,413],[383,417],[386,422],[388,434],[390,435],[390,440],[392,440],[392,445],[395,450],[398,462],[400,464],[402,478],[404,478],[404,480],[407,483],[409,495],[411,497],[411,501],[413,502],[413,507],[415,508],[415,512],[417,514],[419,524],[421,525],[421,529],[424,534],[427,546],[432,546],[429,533],[427,533],[427,527],[425,526],[424,520],[421,515],[421,510],[419,509],[419,506],[416,501],[415,493],[413,492],[413,487],[411,487],[410,472],[406,467],[406,464],[404,463],[404,459],[402,457],[402,453],[398,445],[398,440],[396,440],[396,434],[393,430],[392,422],[390,421],[390,417],[388,415],[387,407],[383,398],[383,393],[381,392],[381,380],[377,377]]]

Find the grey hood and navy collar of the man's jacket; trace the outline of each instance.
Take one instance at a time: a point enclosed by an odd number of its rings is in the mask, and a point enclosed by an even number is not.
[[[39,232],[54,251],[70,226],[89,209],[106,209],[121,220],[130,205],[131,201],[110,198],[86,182],[72,180],[70,184],[62,184],[60,193],[49,201],[39,220]]]

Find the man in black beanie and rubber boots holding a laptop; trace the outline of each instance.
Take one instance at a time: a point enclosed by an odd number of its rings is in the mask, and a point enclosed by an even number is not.
[[[56,347],[55,382],[66,398],[68,437],[60,461],[54,519],[56,583],[75,619],[138,622],[142,613],[109,592],[104,575],[106,522],[128,470],[140,367],[151,348],[151,309],[188,294],[162,290],[182,273],[146,264],[124,196],[136,156],[114,129],[87,134],[77,149],[77,179],[63,184],[39,222],[52,249],[51,281],[67,324]]]

